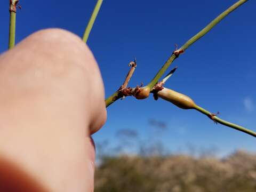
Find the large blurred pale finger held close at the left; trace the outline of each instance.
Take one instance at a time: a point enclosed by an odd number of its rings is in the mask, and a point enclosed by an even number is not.
[[[39,31],[0,57],[0,157],[50,191],[92,191],[90,133],[106,121],[103,83],[88,47]],[[92,131],[93,130],[93,131]]]

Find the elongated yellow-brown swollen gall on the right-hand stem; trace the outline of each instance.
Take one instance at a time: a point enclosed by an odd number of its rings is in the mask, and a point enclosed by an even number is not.
[[[164,88],[162,91],[158,91],[157,96],[166,101],[170,101],[175,106],[182,109],[194,109],[196,107],[196,103],[187,95],[167,88]]]

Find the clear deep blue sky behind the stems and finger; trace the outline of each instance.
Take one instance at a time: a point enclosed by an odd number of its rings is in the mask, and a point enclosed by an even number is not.
[[[0,52],[7,49],[9,0],[0,5]],[[88,45],[97,59],[106,96],[123,83],[128,63],[137,58],[138,67],[130,86],[147,84],[174,50],[207,25],[234,0],[215,1],[103,1]],[[17,13],[17,42],[39,29],[58,27],[82,37],[96,1],[22,1]],[[256,131],[255,1],[228,15],[209,34],[174,61],[177,72],[167,87],[189,95],[220,118]],[[149,119],[165,122],[156,133]],[[165,101],[126,98],[108,108],[108,120],[96,134],[97,142],[117,145],[116,132],[137,130],[140,138],[159,139],[171,151],[188,146],[215,147],[219,154],[235,149],[256,152],[255,138],[229,127],[215,125],[193,110],[182,110]],[[122,142],[122,141],[121,141]]]

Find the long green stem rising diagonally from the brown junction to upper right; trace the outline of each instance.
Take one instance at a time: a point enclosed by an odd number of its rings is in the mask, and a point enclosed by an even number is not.
[[[158,71],[156,76],[152,79],[152,81],[148,84],[150,89],[154,87],[154,85],[159,81],[159,78],[165,73],[166,69],[171,65],[175,58],[179,56],[180,53],[185,51],[190,45],[195,43],[199,38],[203,37],[206,33],[208,33],[215,25],[217,25],[223,18],[225,18],[229,13],[234,11],[237,7],[242,5],[248,0],[240,0],[236,2],[234,5],[230,6],[226,11],[221,13],[217,18],[215,18],[212,22],[209,23],[204,29],[199,31],[198,34],[190,38],[184,45],[180,47],[179,50],[174,51],[171,57],[164,63],[163,67]]]

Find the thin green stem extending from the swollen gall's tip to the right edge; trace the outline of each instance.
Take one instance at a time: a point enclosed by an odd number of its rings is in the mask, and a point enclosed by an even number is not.
[[[196,106],[195,109],[197,111],[201,112],[202,114],[206,115],[207,117],[211,116],[212,120],[215,121],[215,122],[218,122],[218,123],[220,123],[222,125],[231,127],[231,128],[233,128],[235,130],[242,131],[244,133],[250,134],[253,137],[256,137],[256,132],[251,131],[249,129],[246,129],[246,128],[242,127],[242,126],[236,125],[234,123],[230,123],[228,121],[225,121],[225,120],[223,120],[223,119],[221,119],[221,118],[219,118],[217,116],[212,116],[212,114],[209,111],[203,109],[202,107]]]

